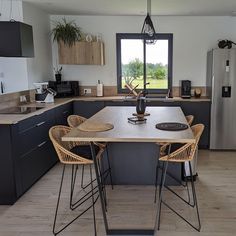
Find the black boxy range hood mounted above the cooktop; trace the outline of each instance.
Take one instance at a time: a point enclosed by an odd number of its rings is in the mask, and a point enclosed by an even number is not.
[[[32,26],[0,21],[0,57],[34,57]]]

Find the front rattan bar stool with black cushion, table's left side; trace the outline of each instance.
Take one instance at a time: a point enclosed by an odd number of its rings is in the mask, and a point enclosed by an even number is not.
[[[60,188],[59,188],[59,194],[57,199],[57,205],[56,205],[56,211],[55,211],[55,217],[53,222],[53,234],[57,235],[61,233],[64,229],[66,229],[69,225],[71,225],[75,220],[77,220],[80,216],[82,216],[85,212],[87,212],[90,208],[93,208],[93,220],[94,220],[94,232],[95,235],[97,235],[96,231],[96,218],[95,218],[95,203],[98,199],[98,189],[97,185],[95,186],[92,175],[92,165],[94,164],[92,160],[92,154],[90,146],[88,145],[80,145],[78,146],[77,142],[62,142],[61,138],[66,135],[68,132],[71,131],[70,127],[67,126],[54,126],[50,128],[49,130],[49,137],[53,143],[53,146],[56,150],[56,153],[58,155],[58,158],[60,162],[63,164],[63,170],[62,170],[62,177],[60,182]],[[73,152],[74,148],[76,148],[76,154]],[[101,159],[102,154],[104,152],[104,149],[101,147],[96,146],[95,148],[96,152],[96,158]],[[85,209],[79,215],[73,218],[70,222],[68,222],[66,225],[61,227],[60,229],[56,230],[56,223],[57,223],[57,216],[58,216],[58,208],[60,205],[60,199],[61,199],[61,191],[63,186],[63,180],[64,180],[64,174],[65,174],[65,168],[66,166],[72,167],[72,174],[71,174],[71,188],[70,188],[70,209],[75,210],[79,206],[82,206],[84,203],[87,203],[89,200],[91,200],[91,204],[89,206],[85,205]],[[75,189],[75,182],[76,182],[76,171],[77,168],[75,166],[78,165],[88,165],[90,169],[90,182],[87,187],[91,187],[91,190],[84,191],[84,194],[82,197],[79,198],[79,200],[73,202],[73,195],[74,195],[74,189]],[[86,187],[86,188],[87,188]]]

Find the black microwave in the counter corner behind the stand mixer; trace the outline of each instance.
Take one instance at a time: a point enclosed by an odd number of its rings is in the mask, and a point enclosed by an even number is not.
[[[57,92],[56,98],[79,96],[79,81],[49,81],[48,87]]]

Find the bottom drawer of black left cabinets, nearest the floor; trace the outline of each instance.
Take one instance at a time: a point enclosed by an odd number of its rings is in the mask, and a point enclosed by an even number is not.
[[[20,158],[22,193],[28,190],[56,162],[57,155],[49,140]]]

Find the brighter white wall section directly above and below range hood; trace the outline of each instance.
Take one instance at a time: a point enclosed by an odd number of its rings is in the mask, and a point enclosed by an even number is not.
[[[21,1],[13,1],[12,15],[10,15],[10,1],[1,1],[0,21],[9,21],[11,18],[22,21]],[[28,89],[26,59],[0,57],[0,81],[4,84],[5,92]]]

